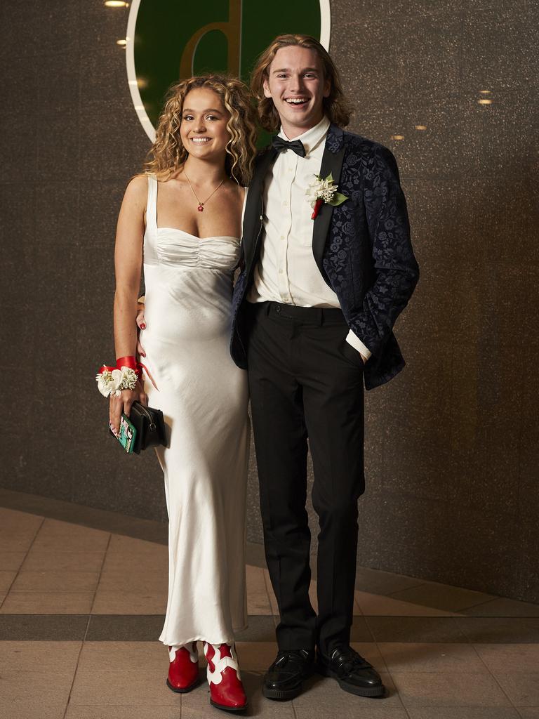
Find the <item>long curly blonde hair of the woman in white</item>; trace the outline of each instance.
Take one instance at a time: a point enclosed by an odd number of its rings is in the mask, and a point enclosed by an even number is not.
[[[240,80],[224,75],[189,78],[170,86],[144,170],[155,173],[160,180],[168,180],[187,160],[189,153],[180,137],[180,124],[185,96],[196,88],[213,90],[229,112],[225,172],[240,185],[248,185],[257,154],[257,114],[249,88]]]

